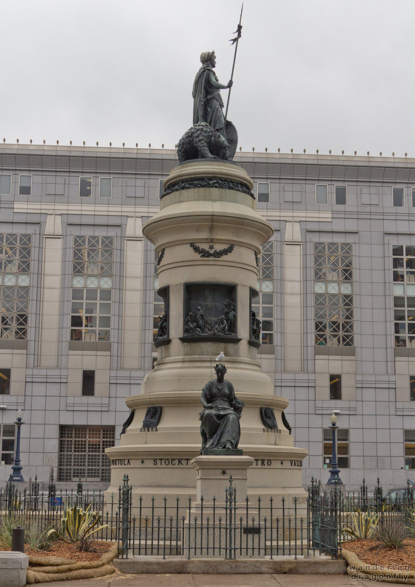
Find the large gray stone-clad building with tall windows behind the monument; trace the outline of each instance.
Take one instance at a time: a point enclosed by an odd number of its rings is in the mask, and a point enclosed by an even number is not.
[[[348,490],[415,468],[415,160],[238,153],[274,227],[254,311],[262,369],[288,397],[311,475],[340,410]],[[107,446],[157,356],[163,303],[141,227],[174,150],[0,146],[0,481],[23,410],[23,475],[109,484]],[[243,436],[241,438],[243,444]]]

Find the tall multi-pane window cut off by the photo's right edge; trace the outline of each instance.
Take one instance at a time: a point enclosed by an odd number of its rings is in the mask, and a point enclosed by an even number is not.
[[[395,346],[415,348],[415,246],[392,245]]]

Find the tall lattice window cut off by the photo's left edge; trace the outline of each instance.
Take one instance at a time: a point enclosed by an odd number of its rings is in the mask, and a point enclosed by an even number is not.
[[[0,233],[0,339],[26,339],[31,234]]]

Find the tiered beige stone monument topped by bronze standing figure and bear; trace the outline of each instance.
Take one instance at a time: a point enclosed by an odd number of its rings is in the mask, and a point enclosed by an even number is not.
[[[245,476],[249,498],[272,496],[278,514],[282,497],[286,512],[295,497],[297,508],[305,504],[306,451],[293,446],[284,424],[288,400],[274,395],[257,360],[257,258],[273,230],[256,210],[251,178],[232,161],[237,133],[224,121],[219,92],[231,83],[221,85],[214,75],[214,52],[202,53],[201,62],[194,126],[178,141],[180,163],[164,181],[160,211],[143,227],[160,261],[164,314],[154,369],[141,394],[126,400],[133,416],[120,446],[106,450],[112,461],[107,495],[128,473],[135,504],[140,495],[144,502],[153,495],[195,499],[198,463],[205,471],[206,459],[220,459],[225,475],[238,477],[245,467],[241,481]],[[156,426],[144,426],[156,416]],[[225,490],[223,473],[222,479]]]

